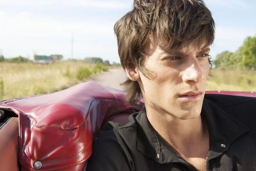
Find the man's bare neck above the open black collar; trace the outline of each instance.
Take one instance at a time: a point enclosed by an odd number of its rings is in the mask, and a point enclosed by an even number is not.
[[[207,125],[201,115],[194,119],[181,120],[171,115],[147,110],[148,120],[165,145],[172,148],[178,155],[192,157],[195,151],[200,153],[202,145],[209,147]],[[197,156],[202,154],[198,154]],[[205,154],[206,155],[206,154]]]

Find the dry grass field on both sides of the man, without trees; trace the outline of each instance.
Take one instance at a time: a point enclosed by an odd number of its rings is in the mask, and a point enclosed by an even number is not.
[[[104,70],[107,67],[102,64],[82,62],[0,63],[0,100],[63,90]],[[256,91],[256,71],[211,70],[211,75],[207,90]]]

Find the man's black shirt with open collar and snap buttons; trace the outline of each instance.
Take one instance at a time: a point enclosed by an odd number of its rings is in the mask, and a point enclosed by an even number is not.
[[[256,171],[256,98],[206,94],[207,171]],[[124,126],[108,122],[93,142],[86,171],[197,171],[163,145],[145,107]]]

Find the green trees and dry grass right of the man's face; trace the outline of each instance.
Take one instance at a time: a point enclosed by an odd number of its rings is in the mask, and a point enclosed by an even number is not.
[[[236,52],[216,55],[213,66],[207,90],[256,92],[256,37],[247,37]]]

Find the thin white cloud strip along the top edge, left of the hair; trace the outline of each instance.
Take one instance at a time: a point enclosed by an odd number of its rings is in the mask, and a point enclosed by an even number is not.
[[[70,7],[130,9],[131,4],[117,0],[1,0],[1,7],[18,6],[27,9],[62,9]]]

